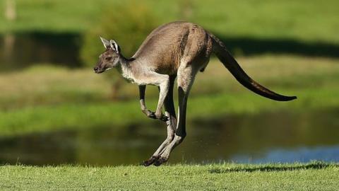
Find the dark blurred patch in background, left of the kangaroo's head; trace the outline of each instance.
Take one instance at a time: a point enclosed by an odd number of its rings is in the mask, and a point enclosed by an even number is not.
[[[33,64],[81,66],[81,37],[76,33],[18,33],[0,36],[1,71]]]

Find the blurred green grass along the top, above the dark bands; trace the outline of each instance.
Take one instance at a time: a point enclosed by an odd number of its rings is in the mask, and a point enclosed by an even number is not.
[[[44,31],[83,33],[121,4],[109,0],[17,0],[14,23],[0,17],[0,32]],[[339,3],[326,1],[143,1],[160,23],[194,21],[229,37],[292,38],[305,42],[338,43]],[[67,6],[66,6],[67,5]],[[1,2],[0,9],[4,9]]]

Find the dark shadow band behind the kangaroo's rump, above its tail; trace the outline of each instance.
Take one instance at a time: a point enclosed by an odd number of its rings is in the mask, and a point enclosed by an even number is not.
[[[339,45],[329,42],[302,42],[290,38],[260,39],[253,37],[220,37],[234,55],[297,54],[307,57],[339,57]]]

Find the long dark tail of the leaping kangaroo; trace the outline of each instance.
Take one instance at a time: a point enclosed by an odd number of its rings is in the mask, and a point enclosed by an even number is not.
[[[239,83],[242,83],[242,86],[245,86],[250,91],[257,93],[260,96],[270,98],[272,100],[288,101],[297,98],[296,96],[283,96],[273,91],[270,91],[268,88],[261,86],[259,83],[251,79],[251,77],[249,77],[245,73],[245,71],[239,66],[237,61],[230,54],[230,52],[228,52],[224,43],[222,43],[218,39],[218,37],[215,37],[212,34],[210,34],[210,37],[212,37],[213,39],[213,52],[218,57],[218,59],[220,59],[222,64],[224,64],[224,66],[231,72],[234,78],[237,79]]]

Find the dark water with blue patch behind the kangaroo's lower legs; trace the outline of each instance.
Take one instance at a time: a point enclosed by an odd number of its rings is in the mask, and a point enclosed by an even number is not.
[[[169,163],[339,162],[339,110],[231,115],[189,122]],[[0,139],[0,163],[138,164],[165,139],[160,122]]]

